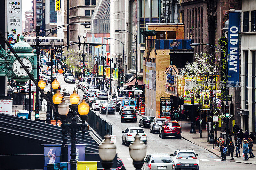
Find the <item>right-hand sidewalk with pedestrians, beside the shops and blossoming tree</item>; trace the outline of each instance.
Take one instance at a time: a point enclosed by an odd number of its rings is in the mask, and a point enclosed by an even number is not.
[[[180,121],[179,121],[180,124]],[[182,121],[182,134],[181,137],[190,141],[193,144],[196,144],[198,146],[203,147],[204,149],[208,150],[209,152],[215,154],[216,156],[218,156],[220,158],[221,154],[220,154],[220,149],[218,147],[215,147],[214,144],[214,149],[212,149],[212,143],[208,143],[207,142],[207,130],[206,129],[202,129],[202,138],[199,138],[199,133],[198,133],[198,128],[195,127],[196,129],[196,134],[189,134],[191,125],[190,125],[190,121]],[[219,137],[220,136],[220,131],[217,131],[217,134]],[[215,138],[215,131],[214,131],[214,138]],[[232,136],[232,141],[235,144],[234,141],[234,136]],[[252,153],[254,155],[256,155],[256,145],[254,144],[254,150],[252,151]],[[235,146],[236,149],[236,146]],[[242,157],[242,153],[243,153],[243,149],[240,148],[240,153],[241,153],[241,158],[236,158],[234,157],[234,160],[230,160],[231,156],[227,156],[226,161],[231,161],[231,162],[237,162],[237,163],[246,163],[246,164],[256,164],[256,157],[253,159],[248,159],[248,161],[244,161],[243,157]],[[234,152],[234,156],[236,156],[236,152]],[[250,157],[249,153],[248,153],[248,157]]]

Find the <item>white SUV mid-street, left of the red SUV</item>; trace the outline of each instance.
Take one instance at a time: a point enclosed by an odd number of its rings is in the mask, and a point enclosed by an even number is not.
[[[127,128],[125,131],[122,131],[122,133],[122,144],[125,144],[125,146],[129,146],[129,144],[135,140],[134,137],[137,133],[140,135],[140,140],[143,141],[144,144],[147,144],[147,134],[142,128]]]

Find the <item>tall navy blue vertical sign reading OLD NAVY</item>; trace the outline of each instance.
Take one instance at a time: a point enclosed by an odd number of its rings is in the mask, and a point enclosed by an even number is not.
[[[228,86],[235,86],[239,77],[240,12],[228,13]]]

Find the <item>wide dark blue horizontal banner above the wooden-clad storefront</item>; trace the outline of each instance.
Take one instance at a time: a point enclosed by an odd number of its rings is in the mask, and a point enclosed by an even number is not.
[[[194,40],[156,40],[156,49],[193,50],[189,45]]]

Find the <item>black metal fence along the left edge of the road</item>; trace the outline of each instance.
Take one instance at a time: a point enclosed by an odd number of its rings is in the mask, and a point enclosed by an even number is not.
[[[102,139],[104,139],[104,136],[107,135],[107,133],[109,133],[109,135],[112,135],[113,133],[112,125],[96,115],[92,110],[89,111],[87,123]]]

